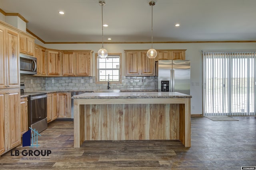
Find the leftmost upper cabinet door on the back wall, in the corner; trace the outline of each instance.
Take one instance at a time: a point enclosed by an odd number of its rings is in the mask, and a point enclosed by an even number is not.
[[[56,51],[47,51],[47,74],[60,75],[60,55]]]

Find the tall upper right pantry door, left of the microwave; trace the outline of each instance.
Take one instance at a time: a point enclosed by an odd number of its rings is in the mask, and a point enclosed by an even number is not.
[[[19,35],[6,29],[6,70],[8,88],[20,87]]]

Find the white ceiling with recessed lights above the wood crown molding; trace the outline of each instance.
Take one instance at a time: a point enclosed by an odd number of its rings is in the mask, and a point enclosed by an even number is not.
[[[256,0],[155,1],[155,42],[256,41]],[[104,27],[104,42],[151,42],[148,2],[106,0],[103,21],[109,27]],[[98,0],[0,0],[0,8],[21,14],[29,21],[27,28],[45,42],[102,41]]]

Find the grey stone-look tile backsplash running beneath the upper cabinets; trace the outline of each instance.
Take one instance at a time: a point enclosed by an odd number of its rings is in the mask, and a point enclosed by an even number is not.
[[[38,90],[106,90],[107,83],[96,84],[95,77],[40,77],[21,75],[20,81],[25,84],[25,92]],[[147,90],[157,89],[155,76],[122,76],[122,83],[110,82],[111,89]]]

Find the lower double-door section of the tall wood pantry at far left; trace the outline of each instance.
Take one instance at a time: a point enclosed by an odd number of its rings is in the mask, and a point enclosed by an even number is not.
[[[20,144],[20,88],[0,90],[0,154]]]

